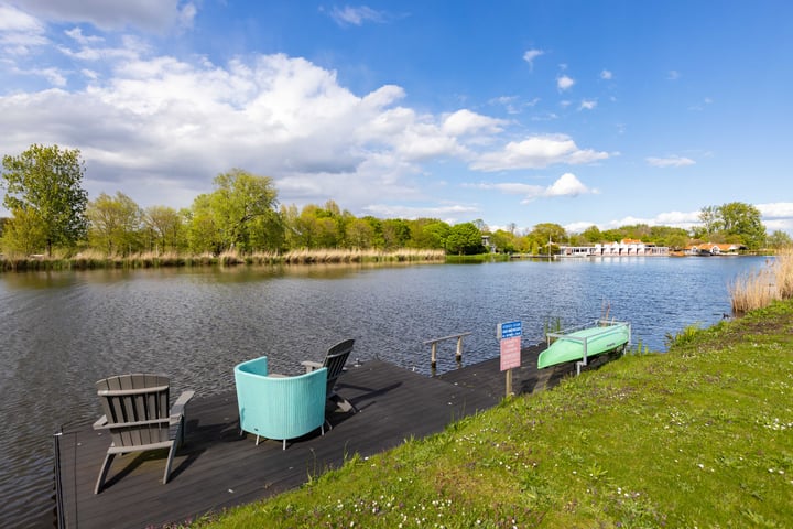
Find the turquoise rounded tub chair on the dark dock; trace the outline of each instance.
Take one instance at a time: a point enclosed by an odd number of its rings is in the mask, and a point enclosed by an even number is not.
[[[325,435],[327,369],[297,377],[268,376],[267,356],[235,367],[240,430],[259,438],[286,440],[317,428]]]

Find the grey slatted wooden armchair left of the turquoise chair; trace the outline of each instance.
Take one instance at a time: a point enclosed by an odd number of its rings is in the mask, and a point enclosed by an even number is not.
[[[171,474],[176,449],[184,441],[184,412],[194,391],[184,391],[169,408],[170,380],[162,375],[131,374],[96,382],[105,414],[95,430],[110,432],[111,444],[99,471],[94,494],[101,492],[117,454],[169,449],[163,484]]]

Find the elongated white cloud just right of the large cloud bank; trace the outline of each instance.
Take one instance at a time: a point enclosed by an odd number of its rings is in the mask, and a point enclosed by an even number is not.
[[[500,151],[478,155],[470,166],[481,171],[543,169],[560,163],[591,163],[608,158],[607,152],[579,149],[568,136],[546,134],[511,141]]]

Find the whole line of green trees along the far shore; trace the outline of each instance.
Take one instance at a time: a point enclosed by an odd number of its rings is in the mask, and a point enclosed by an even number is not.
[[[356,217],[336,202],[302,208],[281,205],[272,179],[231,169],[214,180],[214,191],[198,195],[191,207],[140,207],[121,193],[101,193],[93,201],[82,187],[85,163],[77,149],[33,144],[2,159],[3,205],[0,251],[9,256],[64,255],[90,248],[107,256],[140,252],[220,255],[283,252],[296,249],[443,249],[453,255],[488,251],[482,235],[502,252],[553,253],[560,245],[583,246],[623,238],[682,248],[692,238],[739,242],[749,249],[790,245],[790,236],[767,237],[754,206],[730,203],[700,212],[692,231],[638,224],[600,230],[596,226],[568,234],[553,223],[519,233],[514,224],[490,230],[482,220],[449,225],[437,218]]]

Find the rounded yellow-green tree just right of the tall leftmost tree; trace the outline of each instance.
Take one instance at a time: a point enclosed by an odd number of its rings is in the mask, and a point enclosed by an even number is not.
[[[93,246],[104,248],[108,256],[126,256],[138,251],[141,215],[138,204],[120,191],[115,197],[101,193],[88,203],[88,240]]]

